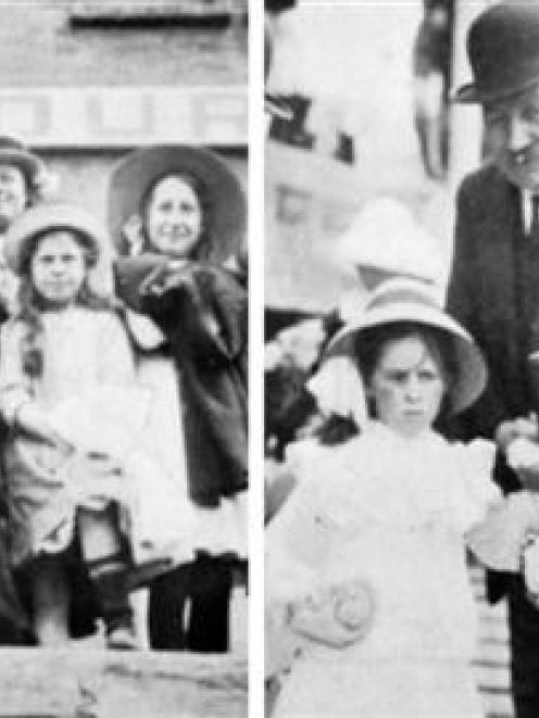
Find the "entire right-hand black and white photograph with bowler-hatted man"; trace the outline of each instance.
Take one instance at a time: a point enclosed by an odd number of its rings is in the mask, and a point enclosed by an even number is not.
[[[264,60],[265,714],[539,716],[539,3]]]

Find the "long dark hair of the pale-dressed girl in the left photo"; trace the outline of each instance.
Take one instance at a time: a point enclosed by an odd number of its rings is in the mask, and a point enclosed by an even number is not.
[[[15,318],[26,325],[26,331],[21,340],[21,354],[23,360],[23,371],[32,378],[41,376],[43,369],[43,325],[41,322],[41,312],[45,310],[45,302],[33,285],[30,263],[40,241],[51,231],[57,229],[68,231],[77,244],[83,248],[87,270],[92,269],[99,259],[99,252],[93,240],[84,232],[73,229],[72,227],[49,227],[43,231],[34,235],[34,237],[27,241],[21,262],[18,311]],[[115,308],[115,304],[111,299],[98,294],[90,287],[87,276],[85,276],[83,280],[75,301],[79,306],[86,306],[96,311],[113,311]]]

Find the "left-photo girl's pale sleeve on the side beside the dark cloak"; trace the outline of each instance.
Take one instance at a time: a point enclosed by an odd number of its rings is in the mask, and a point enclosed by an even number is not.
[[[114,313],[103,313],[99,333],[99,379],[102,383],[135,381],[135,363],[127,330]]]

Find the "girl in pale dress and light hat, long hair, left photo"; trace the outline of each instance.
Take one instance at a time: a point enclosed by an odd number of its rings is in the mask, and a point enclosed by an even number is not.
[[[91,216],[62,203],[30,207],[10,226],[4,252],[21,289],[0,330],[0,412],[10,428],[11,559],[39,642],[84,634],[101,615],[109,646],[127,648],[135,634],[120,454],[142,398],[124,326],[92,287],[105,240]]]

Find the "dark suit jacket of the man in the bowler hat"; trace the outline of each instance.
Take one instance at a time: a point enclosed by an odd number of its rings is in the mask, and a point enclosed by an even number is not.
[[[528,355],[539,349],[539,237],[523,229],[521,191],[493,166],[466,177],[457,196],[455,248],[447,308],[481,347],[489,382],[457,419],[462,439],[493,438],[500,421],[539,407]],[[519,488],[500,458],[497,481]],[[490,580],[496,601],[506,582]]]

